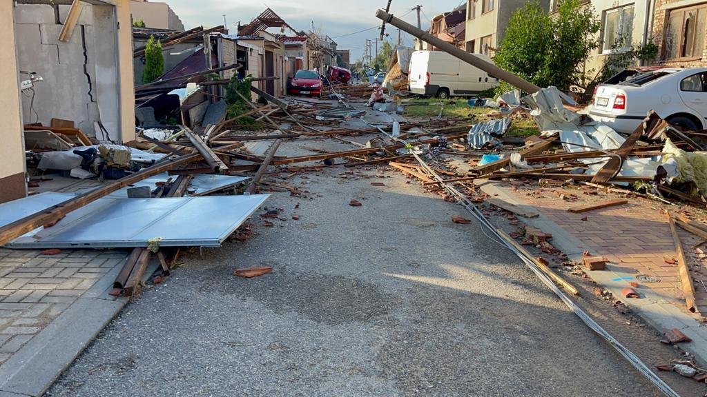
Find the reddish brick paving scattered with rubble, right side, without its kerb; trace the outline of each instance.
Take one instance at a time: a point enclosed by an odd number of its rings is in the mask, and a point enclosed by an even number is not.
[[[564,191],[567,194],[573,191],[580,196],[579,202],[583,204],[616,196],[603,192],[597,196],[583,195],[579,194],[583,188],[571,187],[537,189],[534,185],[522,185],[515,191],[503,189],[508,194],[537,208],[566,232],[582,240],[593,253],[606,256],[612,263],[617,263],[626,271],[635,271],[636,275],[660,278],[660,283],[641,282],[642,288],[650,288],[665,299],[673,301],[677,307],[684,309],[677,266],[669,265],[664,260],[664,258],[674,258],[676,252],[670,227],[660,204],[636,198],[631,199],[628,205],[573,214],[566,210],[578,204],[558,200],[557,192]],[[585,216],[588,220],[582,221],[581,218]],[[679,233],[683,249],[689,256],[690,252],[694,251],[692,247],[701,241],[684,230],[679,230]],[[693,267],[696,268],[701,268],[702,272],[693,272],[691,275],[695,280],[703,278],[707,285],[707,265],[699,263],[699,266]],[[702,273],[706,275],[702,276]],[[696,283],[696,287],[699,286],[701,283]],[[707,298],[707,292],[705,293]],[[707,299],[705,302],[699,302],[698,305],[704,305],[701,312],[707,312]]]

